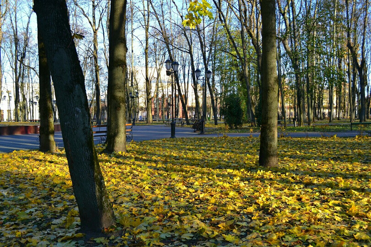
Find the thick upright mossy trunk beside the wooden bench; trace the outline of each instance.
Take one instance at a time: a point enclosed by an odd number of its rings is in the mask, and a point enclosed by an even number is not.
[[[126,0],[111,3],[109,20],[108,131],[106,152],[126,152]],[[124,82],[124,83],[123,83]]]

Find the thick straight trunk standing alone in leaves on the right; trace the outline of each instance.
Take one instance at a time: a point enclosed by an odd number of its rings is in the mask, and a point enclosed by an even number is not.
[[[262,9],[262,127],[259,165],[278,165],[277,107],[278,76],[276,63],[276,2],[260,0]]]

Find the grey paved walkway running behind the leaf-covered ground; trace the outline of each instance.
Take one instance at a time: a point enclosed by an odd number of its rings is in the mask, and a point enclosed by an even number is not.
[[[170,127],[163,125],[137,125],[133,126],[133,139],[134,141],[154,140],[162,138],[170,138]],[[290,137],[320,137],[322,133],[317,132],[295,132],[287,133]],[[328,132],[328,135],[336,134],[337,137],[355,137],[358,131],[345,131],[345,132]],[[260,133],[253,133],[254,137]],[[29,150],[39,148],[37,142],[38,134],[23,134],[12,136],[0,136],[0,153],[10,153],[14,150]],[[194,133],[193,129],[188,127],[175,127],[175,136],[181,137],[217,137],[218,134],[205,134],[200,135],[198,132]],[[219,135],[220,136],[220,135]],[[250,133],[227,133],[230,137],[243,137],[250,136]],[[55,141],[58,147],[63,147],[62,133],[55,133]],[[98,142],[96,142],[98,143]]]

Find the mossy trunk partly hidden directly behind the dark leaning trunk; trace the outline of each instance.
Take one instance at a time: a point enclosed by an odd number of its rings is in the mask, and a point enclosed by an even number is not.
[[[38,30],[38,32],[40,32]],[[37,35],[39,48],[39,86],[40,86],[40,151],[55,152],[54,121],[52,109],[52,84],[46,60],[45,46],[40,34]]]

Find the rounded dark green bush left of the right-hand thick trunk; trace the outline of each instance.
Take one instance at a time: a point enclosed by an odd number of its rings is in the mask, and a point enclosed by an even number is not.
[[[229,128],[242,127],[246,123],[246,104],[237,94],[224,97],[220,113],[224,116],[224,123]]]

